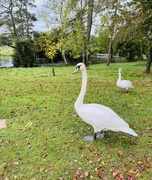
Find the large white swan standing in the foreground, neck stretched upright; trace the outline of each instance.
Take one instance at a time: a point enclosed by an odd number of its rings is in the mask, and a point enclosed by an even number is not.
[[[73,74],[79,70],[82,72],[82,87],[74,104],[74,108],[82,120],[94,128],[94,136],[86,136],[84,137],[84,140],[92,141],[96,140],[96,138],[102,138],[103,136],[98,132],[108,130],[122,131],[133,136],[138,136],[131,128],[129,128],[129,125],[109,107],[100,104],[83,104],[87,88],[87,72],[83,63],[78,63],[76,65]]]

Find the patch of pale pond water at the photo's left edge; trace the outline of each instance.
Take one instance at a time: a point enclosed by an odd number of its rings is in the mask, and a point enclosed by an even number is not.
[[[0,67],[13,67],[11,56],[0,56]]]

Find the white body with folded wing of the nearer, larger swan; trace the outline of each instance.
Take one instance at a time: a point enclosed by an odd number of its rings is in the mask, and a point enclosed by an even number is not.
[[[129,125],[112,109],[100,104],[83,104],[77,113],[97,131],[120,131],[121,128],[129,128]]]

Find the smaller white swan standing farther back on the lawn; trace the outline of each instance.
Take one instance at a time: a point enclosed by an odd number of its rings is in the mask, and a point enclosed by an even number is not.
[[[118,73],[118,81],[116,85],[120,87],[121,89],[126,89],[126,92],[128,93],[129,88],[134,88],[132,83],[129,80],[121,80],[121,68],[119,68],[119,73]]]

